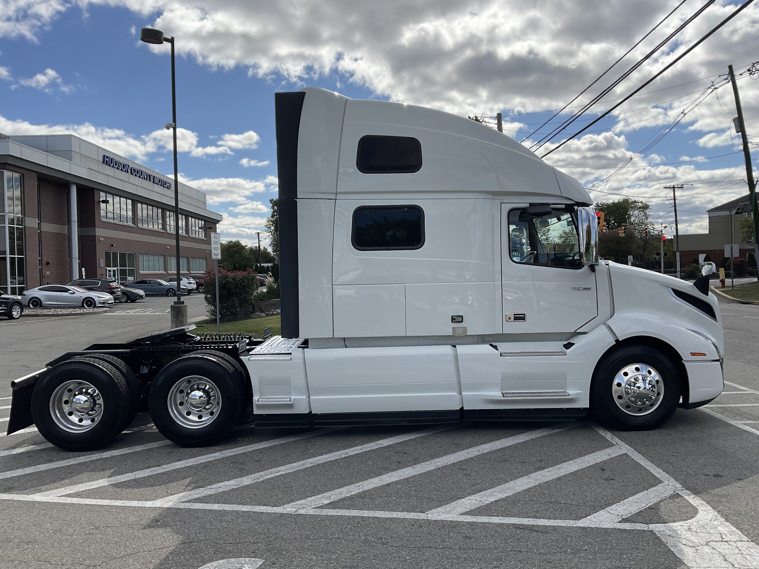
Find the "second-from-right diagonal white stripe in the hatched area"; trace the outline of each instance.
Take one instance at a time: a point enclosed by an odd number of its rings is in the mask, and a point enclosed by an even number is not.
[[[439,508],[434,508],[427,513],[442,516],[451,514],[464,514],[464,512],[474,510],[474,508],[480,508],[480,506],[490,504],[491,502],[500,500],[506,496],[516,494],[517,492],[532,488],[538,484],[543,484],[549,480],[564,476],[565,474],[573,473],[575,470],[581,470],[582,468],[589,467],[593,464],[608,461],[609,458],[613,458],[624,453],[625,451],[616,445],[613,447],[604,448],[603,451],[587,454],[584,457],[575,458],[572,461],[557,464],[555,467],[538,470],[537,472],[528,474],[527,476],[522,476],[521,478],[512,480],[511,482],[496,486],[495,488],[483,490],[483,492],[477,492],[477,494],[467,496],[466,498],[461,498],[461,500],[452,501],[450,504],[440,506]]]

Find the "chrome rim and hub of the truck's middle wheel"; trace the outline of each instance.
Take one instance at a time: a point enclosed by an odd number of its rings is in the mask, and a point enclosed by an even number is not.
[[[219,388],[203,376],[183,377],[168,391],[168,412],[172,419],[189,429],[213,423],[221,407]]]

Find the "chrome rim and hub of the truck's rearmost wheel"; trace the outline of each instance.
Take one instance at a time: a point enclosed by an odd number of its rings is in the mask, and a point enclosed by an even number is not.
[[[102,418],[102,396],[87,382],[73,380],[58,385],[50,398],[53,422],[68,432],[85,432]]]

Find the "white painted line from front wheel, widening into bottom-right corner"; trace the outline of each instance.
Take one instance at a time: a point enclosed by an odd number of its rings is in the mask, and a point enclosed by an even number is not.
[[[713,413],[708,409],[706,412]],[[594,425],[594,428],[609,442],[625,449],[634,461],[657,476],[663,483],[676,487],[679,495],[698,508],[698,515],[692,520],[655,523],[649,526],[650,530],[653,530],[688,567],[694,569],[697,567],[746,567],[747,569],[759,567],[757,544],[736,530],[704,500],[684,489],[672,476],[655,466],[630,445],[600,426]]]

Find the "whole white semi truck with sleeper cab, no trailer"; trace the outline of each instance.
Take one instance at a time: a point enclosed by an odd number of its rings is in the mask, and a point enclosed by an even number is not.
[[[13,382],[8,432],[87,450],[149,408],[179,445],[256,426],[565,420],[652,429],[723,390],[716,297],[599,260],[591,197],[445,112],[276,94],[282,336],[194,326]]]

